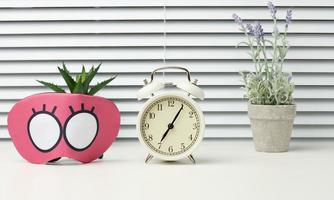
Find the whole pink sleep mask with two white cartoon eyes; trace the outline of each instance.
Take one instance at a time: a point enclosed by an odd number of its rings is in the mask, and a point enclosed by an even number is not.
[[[120,113],[97,96],[43,93],[14,105],[8,130],[17,151],[31,163],[68,157],[89,163],[118,135]]]

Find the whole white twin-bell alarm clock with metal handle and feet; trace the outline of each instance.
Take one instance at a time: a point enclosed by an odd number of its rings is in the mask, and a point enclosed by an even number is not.
[[[179,84],[159,82],[154,79],[158,71],[183,70],[188,80]],[[204,99],[204,92],[191,81],[190,73],[182,67],[162,67],[151,73],[151,80],[138,92],[138,100],[150,97],[137,118],[139,141],[149,152],[145,162],[153,157],[174,161],[188,157],[193,163],[192,152],[203,139],[205,128],[203,112],[191,96]],[[166,91],[176,86],[179,91]],[[160,93],[155,95],[155,93]]]

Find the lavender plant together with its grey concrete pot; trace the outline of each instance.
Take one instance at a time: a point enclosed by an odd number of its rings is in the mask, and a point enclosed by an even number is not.
[[[271,35],[265,35],[259,22],[245,24],[233,14],[235,22],[246,36],[239,43],[249,47],[255,71],[241,72],[245,97],[248,98],[248,116],[251,121],[255,149],[261,152],[288,151],[296,104],[293,101],[292,74],[283,72],[283,63],[289,44],[287,31],[292,10],[287,10],[284,32],[279,31],[276,7],[268,2],[273,20]]]

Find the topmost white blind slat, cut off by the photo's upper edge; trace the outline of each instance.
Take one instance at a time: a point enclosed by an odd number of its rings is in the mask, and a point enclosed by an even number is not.
[[[2,8],[22,8],[22,7],[151,7],[162,6],[164,3],[167,6],[193,6],[193,7],[206,7],[206,6],[226,6],[226,7],[252,7],[260,6],[265,7],[265,3],[262,0],[234,0],[234,1],[221,1],[221,0],[12,0],[3,1],[0,4]],[[300,7],[328,7],[334,6],[331,0],[308,0],[308,1],[291,1],[291,0],[279,0],[275,2],[276,6],[300,6]]]

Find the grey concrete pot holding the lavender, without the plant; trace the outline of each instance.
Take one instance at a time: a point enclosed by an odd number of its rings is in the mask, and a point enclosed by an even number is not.
[[[288,151],[296,105],[248,104],[248,116],[256,151]]]

